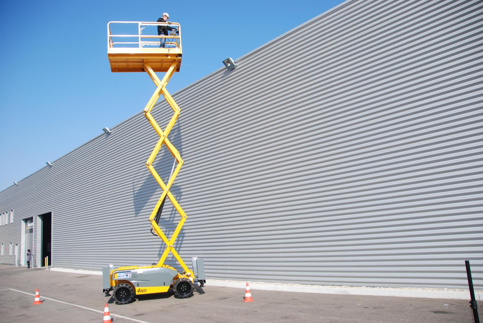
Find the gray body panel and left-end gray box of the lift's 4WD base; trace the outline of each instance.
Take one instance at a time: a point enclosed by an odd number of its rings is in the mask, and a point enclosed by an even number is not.
[[[111,287],[109,271],[109,267],[102,268],[102,285],[104,289]],[[113,275],[115,272],[118,275],[130,273],[130,277],[117,278],[117,280],[129,281],[135,288],[170,286],[173,283],[173,278],[178,275],[178,271],[166,267],[115,270]]]

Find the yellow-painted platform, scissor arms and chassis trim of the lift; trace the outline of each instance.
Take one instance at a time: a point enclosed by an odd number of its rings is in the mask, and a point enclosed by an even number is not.
[[[126,37],[126,35],[111,35],[111,29],[110,29],[110,24],[111,23],[131,23],[131,24],[138,24],[139,25],[139,35],[134,35],[133,37],[139,37],[139,47],[131,47],[131,48],[114,48],[115,42],[113,41],[113,37]],[[140,72],[140,71],[145,71],[148,73],[149,77],[151,80],[155,83],[156,85],[156,90],[149,99],[148,103],[146,104],[146,107],[144,108],[144,116],[146,119],[149,121],[151,126],[154,128],[156,131],[156,134],[159,136],[159,140],[156,143],[156,146],[154,147],[153,151],[151,152],[148,160],[146,161],[146,167],[148,168],[149,172],[154,176],[156,179],[156,182],[158,185],[163,189],[163,193],[159,197],[156,206],[154,207],[153,211],[151,212],[151,215],[149,216],[149,222],[151,223],[151,226],[153,230],[156,232],[157,236],[166,244],[166,248],[164,249],[164,252],[162,256],[159,258],[159,261],[157,265],[154,266],[126,266],[126,267],[120,267],[117,269],[113,269],[110,271],[110,280],[111,280],[111,286],[115,286],[118,283],[130,283],[128,281],[123,281],[123,280],[117,280],[116,272],[118,270],[126,270],[126,269],[148,269],[148,268],[155,268],[155,267],[167,267],[170,269],[174,269],[171,266],[164,265],[164,262],[171,253],[178,263],[181,265],[183,268],[184,272],[180,273],[179,275],[175,276],[173,279],[173,282],[176,281],[177,279],[180,278],[188,278],[193,282],[195,278],[195,274],[192,270],[190,270],[183,259],[179,256],[179,254],[176,252],[175,248],[173,247],[174,242],[176,241],[176,238],[178,237],[178,234],[180,233],[181,229],[183,228],[183,224],[186,221],[186,214],[179,205],[179,203],[176,201],[174,196],[170,192],[170,188],[176,179],[176,176],[178,175],[181,167],[183,166],[183,159],[181,158],[181,155],[179,151],[171,144],[170,140],[168,139],[168,135],[170,134],[171,129],[174,126],[174,123],[178,119],[181,109],[178,107],[174,99],[172,98],[171,94],[168,92],[166,89],[166,85],[170,81],[171,76],[174,74],[174,72],[179,71],[179,68],[181,66],[181,59],[182,59],[182,51],[181,51],[181,36],[169,36],[170,38],[175,38],[176,40],[176,47],[175,48],[143,48],[143,46],[146,44],[146,41],[142,41],[142,38],[148,38],[148,39],[153,39],[153,38],[167,38],[166,36],[142,36],[142,28],[145,27],[146,25],[160,25],[159,23],[143,23],[143,22],[110,22],[108,24],[108,57],[109,57],[109,62],[111,64],[111,71],[112,72]],[[179,24],[177,23],[170,23],[170,25],[176,25],[178,28],[180,28]],[[178,29],[179,30],[179,29]],[[179,31],[180,32],[180,31]],[[180,34],[181,35],[181,34]],[[148,41],[148,45],[153,45],[152,41]],[[141,67],[142,64],[142,67]],[[156,68],[153,68],[152,66],[156,66]],[[155,71],[166,71],[166,74],[164,77],[160,80]],[[161,127],[158,125],[156,120],[154,119],[153,115],[151,114],[151,110],[154,108],[156,101],[159,99],[160,96],[163,96],[164,99],[168,102],[170,107],[173,110],[173,115],[168,122],[166,128],[164,131],[161,129]],[[157,174],[156,170],[153,167],[153,161],[155,160],[157,154],[159,153],[159,150],[161,147],[165,145],[166,148],[169,150],[171,155],[176,159],[178,164],[176,165],[176,168],[174,169],[170,180],[168,183],[164,183],[161,177]],[[173,235],[171,236],[170,239],[166,237],[166,235],[163,233],[163,231],[159,228],[158,224],[156,223],[155,217],[157,210],[161,206],[161,203],[165,199],[165,197],[168,197],[170,199],[170,202],[173,204],[174,208],[178,212],[178,214],[181,216],[180,221],[174,230]],[[176,269],[174,269],[176,270]],[[113,275],[114,273],[114,275]],[[142,294],[151,294],[151,293],[159,293],[159,292],[166,292],[170,286],[159,286],[159,287],[143,287],[143,288],[138,288],[136,290],[136,295],[142,295]]]

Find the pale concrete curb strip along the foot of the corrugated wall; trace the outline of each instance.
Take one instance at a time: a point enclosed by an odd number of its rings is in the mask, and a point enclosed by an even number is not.
[[[102,275],[102,271],[51,268],[52,271],[71,272],[76,274]],[[243,281],[221,281],[207,279],[206,284],[220,287],[234,287],[245,289],[247,282]],[[469,290],[448,290],[429,288],[390,288],[390,287],[356,287],[356,286],[323,286],[323,285],[302,285],[283,283],[250,283],[250,290],[259,289],[279,292],[317,293],[317,294],[338,294],[338,295],[367,295],[367,296],[394,296],[394,297],[420,297],[420,298],[449,298],[469,299]],[[483,300],[483,292],[475,291],[476,300]]]

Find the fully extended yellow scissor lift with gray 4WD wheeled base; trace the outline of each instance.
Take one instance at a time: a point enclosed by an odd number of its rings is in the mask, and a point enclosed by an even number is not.
[[[137,34],[121,33],[112,34],[112,26],[137,27]],[[154,31],[157,26],[170,26],[176,28],[174,34],[170,35],[149,35],[149,31]],[[116,27],[117,27],[116,26]],[[116,29],[117,30],[117,29]],[[122,28],[121,28],[122,30]],[[156,179],[156,182],[163,189],[163,193],[159,197],[153,212],[149,216],[151,222],[151,232],[155,232],[161,240],[166,244],[166,248],[157,264],[151,266],[127,266],[115,268],[109,265],[103,268],[103,292],[106,296],[111,290],[114,290],[113,296],[116,304],[128,304],[132,298],[137,295],[153,294],[167,292],[170,287],[173,288],[174,295],[186,298],[193,295],[194,283],[203,286],[204,264],[203,259],[198,257],[192,258],[193,270],[190,270],[183,259],[178,255],[173,247],[178,234],[186,220],[186,214],[176,199],[170,192],[171,185],[183,166],[183,159],[179,151],[170,143],[168,135],[178,119],[181,109],[174,102],[171,95],[166,90],[166,84],[170,81],[174,72],[179,72],[182,58],[181,47],[181,28],[178,23],[159,23],[159,22],[126,22],[111,21],[107,25],[108,31],[108,47],[107,53],[112,72],[147,72],[151,80],[156,84],[156,91],[151,96],[146,107],[144,108],[144,116],[151,123],[159,140],[151,152],[146,167]],[[143,35],[144,32],[144,35]],[[154,32],[153,32],[154,33]],[[160,48],[160,40],[165,39],[165,48]],[[132,40],[132,41],[131,41]],[[162,80],[160,80],[155,72],[166,72]],[[173,109],[173,116],[164,131],[159,127],[157,122],[151,115],[151,110],[156,104],[159,96],[163,95],[170,107]],[[156,158],[162,145],[170,151],[174,157],[173,169],[171,170],[170,179],[165,184],[161,177],[157,174],[153,167],[153,161]],[[176,165],[176,162],[178,163]],[[176,166],[176,167],[175,167]],[[168,197],[176,211],[181,216],[178,226],[174,230],[171,239],[158,226],[158,220],[164,201]],[[154,233],[153,233],[154,234]],[[178,272],[175,268],[165,265],[164,261],[169,253],[172,253],[176,260],[183,268],[183,272]]]

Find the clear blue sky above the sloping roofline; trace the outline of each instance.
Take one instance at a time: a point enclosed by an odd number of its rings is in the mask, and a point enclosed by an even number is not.
[[[182,28],[174,93],[343,0],[5,1],[0,10],[0,190],[141,111],[146,73],[111,73],[109,21]]]

